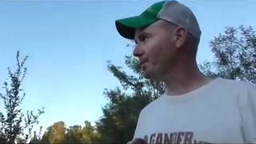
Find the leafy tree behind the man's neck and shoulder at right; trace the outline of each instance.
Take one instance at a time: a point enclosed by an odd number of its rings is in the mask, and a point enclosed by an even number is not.
[[[256,82],[256,33],[251,26],[226,27],[210,47],[215,60],[200,65],[205,74]]]

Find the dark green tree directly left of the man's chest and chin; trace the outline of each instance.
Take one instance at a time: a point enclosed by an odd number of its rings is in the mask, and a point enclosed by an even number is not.
[[[134,72],[133,75],[126,74],[120,66],[114,66],[110,62],[108,65],[122,87],[104,91],[109,102],[102,108],[102,118],[96,122],[102,142],[130,141],[142,108],[164,92],[162,82],[150,81],[142,76],[137,58],[126,56],[125,63]]]

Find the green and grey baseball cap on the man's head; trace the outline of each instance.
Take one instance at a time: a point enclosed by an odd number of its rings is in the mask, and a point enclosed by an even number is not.
[[[143,29],[160,19],[185,28],[199,41],[201,30],[197,19],[190,8],[177,1],[156,2],[138,16],[116,20],[115,26],[122,37],[134,39],[136,29]]]

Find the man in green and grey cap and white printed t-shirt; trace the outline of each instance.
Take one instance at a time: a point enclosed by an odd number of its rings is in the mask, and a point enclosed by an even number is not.
[[[137,143],[256,142],[256,86],[198,70],[201,30],[188,7],[157,2],[139,16],[117,20],[116,27],[136,42],[144,76],[166,85],[165,94],[140,113]]]

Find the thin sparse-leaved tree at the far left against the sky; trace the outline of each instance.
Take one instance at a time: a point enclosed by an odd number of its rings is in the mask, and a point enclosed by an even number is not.
[[[0,141],[3,143],[26,142],[31,138],[31,130],[34,124],[38,124],[38,118],[44,113],[44,110],[38,110],[34,114],[32,110],[26,110],[26,114],[22,112],[22,100],[25,93],[22,93],[22,81],[26,76],[27,68],[25,66],[28,56],[20,61],[19,51],[16,55],[17,69],[11,70],[8,67],[8,75],[10,82],[3,83],[4,92],[0,94],[0,98],[4,103],[6,113],[0,112]],[[26,134],[26,130],[29,134]]]

